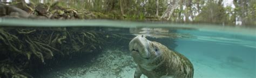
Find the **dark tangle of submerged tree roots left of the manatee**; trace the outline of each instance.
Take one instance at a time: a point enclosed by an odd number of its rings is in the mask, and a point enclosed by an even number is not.
[[[0,57],[6,56],[0,58],[0,75],[5,75],[3,77],[32,77],[23,71],[29,67],[28,65],[34,65],[29,64],[31,61],[45,64],[47,60],[55,58],[56,55],[66,56],[76,52],[91,53],[101,50],[106,38],[108,37],[104,33],[95,31],[0,28]]]

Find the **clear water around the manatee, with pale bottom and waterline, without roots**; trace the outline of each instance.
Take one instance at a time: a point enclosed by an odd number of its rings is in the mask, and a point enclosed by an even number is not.
[[[164,44],[170,50],[186,56],[193,64],[196,78],[256,76],[255,28],[110,20],[0,19],[0,25],[2,29],[91,29],[124,37],[123,40],[107,40],[109,45],[102,46],[105,48],[100,52],[92,51],[89,56],[87,53],[80,54],[73,56],[72,59],[63,60],[63,63],[41,68],[44,70],[33,75],[36,77],[133,77],[136,63],[128,46],[129,41],[138,34],[146,35],[148,40]]]

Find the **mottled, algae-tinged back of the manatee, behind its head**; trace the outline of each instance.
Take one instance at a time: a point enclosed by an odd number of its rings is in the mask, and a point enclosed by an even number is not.
[[[163,51],[161,60],[164,60],[164,63],[159,69],[156,69],[157,72],[162,72],[159,74],[173,77],[193,77],[194,68],[188,58],[179,52],[170,50],[161,43],[154,43]]]

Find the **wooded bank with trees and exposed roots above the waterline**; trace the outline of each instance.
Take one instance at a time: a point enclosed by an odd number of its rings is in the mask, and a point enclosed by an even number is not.
[[[3,0],[2,3],[26,11],[28,13],[26,18],[30,19],[114,19],[208,23],[224,26],[256,25],[254,0],[27,0],[26,2]],[[6,9],[3,4],[0,7]],[[17,17],[17,14],[17,12],[0,13],[0,17]]]

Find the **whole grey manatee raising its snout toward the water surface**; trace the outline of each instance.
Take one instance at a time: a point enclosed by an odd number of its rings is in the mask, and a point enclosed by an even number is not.
[[[144,35],[134,37],[129,50],[137,69],[134,77],[192,78],[194,68],[183,54],[168,49],[165,45],[147,40]]]

